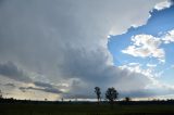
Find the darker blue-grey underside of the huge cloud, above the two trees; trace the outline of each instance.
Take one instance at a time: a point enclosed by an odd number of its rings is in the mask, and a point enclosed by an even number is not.
[[[70,60],[70,56],[73,58]],[[100,50],[90,52],[71,49],[70,52],[64,53],[64,59],[59,62],[58,66],[64,78],[78,78],[72,81],[71,88],[72,92],[82,92],[82,94],[92,93],[91,90],[96,86],[103,90],[108,87],[115,87],[120,90],[138,90],[151,84],[151,79],[147,76],[109,65],[105,63],[108,60],[109,56]]]

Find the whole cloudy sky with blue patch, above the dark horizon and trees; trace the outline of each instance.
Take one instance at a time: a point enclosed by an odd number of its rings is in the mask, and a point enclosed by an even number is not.
[[[173,98],[170,0],[1,0],[4,98]],[[40,97],[41,95],[41,97]]]

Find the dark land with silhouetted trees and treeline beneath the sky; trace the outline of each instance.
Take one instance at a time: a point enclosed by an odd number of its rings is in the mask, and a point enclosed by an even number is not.
[[[108,88],[105,101],[101,89],[95,88],[97,102],[89,101],[30,101],[5,99],[0,91],[0,115],[174,115],[174,100],[119,101],[115,88]]]

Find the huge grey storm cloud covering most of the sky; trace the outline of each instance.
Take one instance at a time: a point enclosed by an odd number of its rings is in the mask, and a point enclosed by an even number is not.
[[[0,62],[15,62],[32,75],[32,82],[69,84],[69,92],[76,95],[94,94],[96,86],[103,90],[112,86],[120,90],[142,90],[150,79],[113,66],[108,36],[123,34],[132,25],[146,24],[149,11],[161,1],[1,1]],[[12,79],[29,81],[23,79],[24,74],[17,75],[20,78],[5,74]],[[51,87],[35,85],[47,92]]]

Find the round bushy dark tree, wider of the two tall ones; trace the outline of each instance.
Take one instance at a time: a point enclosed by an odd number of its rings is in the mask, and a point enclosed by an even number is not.
[[[105,92],[105,99],[109,100],[111,107],[113,108],[114,100],[117,99],[119,92],[115,90],[115,88],[108,88]]]

